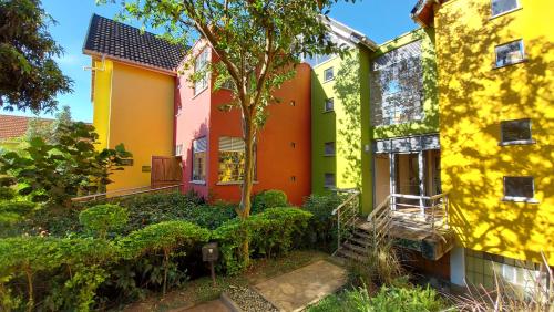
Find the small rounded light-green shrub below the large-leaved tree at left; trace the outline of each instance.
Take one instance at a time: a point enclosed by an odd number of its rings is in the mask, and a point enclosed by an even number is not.
[[[79,214],[83,227],[105,239],[107,231],[123,227],[129,221],[127,211],[117,205],[98,205]]]

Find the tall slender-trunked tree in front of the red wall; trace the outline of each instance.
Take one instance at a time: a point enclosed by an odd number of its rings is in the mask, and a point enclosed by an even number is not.
[[[116,0],[100,0],[106,1]],[[278,101],[274,91],[294,75],[304,55],[343,52],[328,35],[325,17],[337,1],[121,0],[124,17],[163,28],[164,38],[174,43],[189,43],[199,34],[219,60],[208,66],[215,73],[215,89],[230,82],[234,100],[228,107],[242,112],[246,150],[237,214],[243,220],[250,214],[258,131],[266,121],[266,107]],[[247,242],[243,252],[248,254]]]

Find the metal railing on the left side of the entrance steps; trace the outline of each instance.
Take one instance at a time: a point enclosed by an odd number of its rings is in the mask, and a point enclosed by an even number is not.
[[[345,201],[332,210],[331,216],[337,216],[337,250],[356,227],[359,208],[360,191],[347,190],[347,198]]]

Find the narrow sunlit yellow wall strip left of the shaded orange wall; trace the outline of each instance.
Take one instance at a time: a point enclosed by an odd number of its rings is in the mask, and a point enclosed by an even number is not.
[[[99,69],[93,75],[93,117],[92,125],[99,134],[96,148],[102,150],[107,147],[110,137],[110,105],[112,100],[113,62],[92,60],[92,66]]]

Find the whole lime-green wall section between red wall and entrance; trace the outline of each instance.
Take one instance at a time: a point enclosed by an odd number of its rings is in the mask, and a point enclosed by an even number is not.
[[[335,79],[324,82],[325,70],[334,67]],[[311,74],[312,187],[325,194],[325,174],[335,174],[337,188],[362,189],[362,207],[371,208],[371,155],[363,152],[369,136],[369,59],[355,49],[349,56],[335,56],[314,67]],[[334,111],[325,112],[326,98],[334,98]],[[336,155],[325,156],[325,143],[335,142]],[[366,177],[362,179],[362,175]]]

